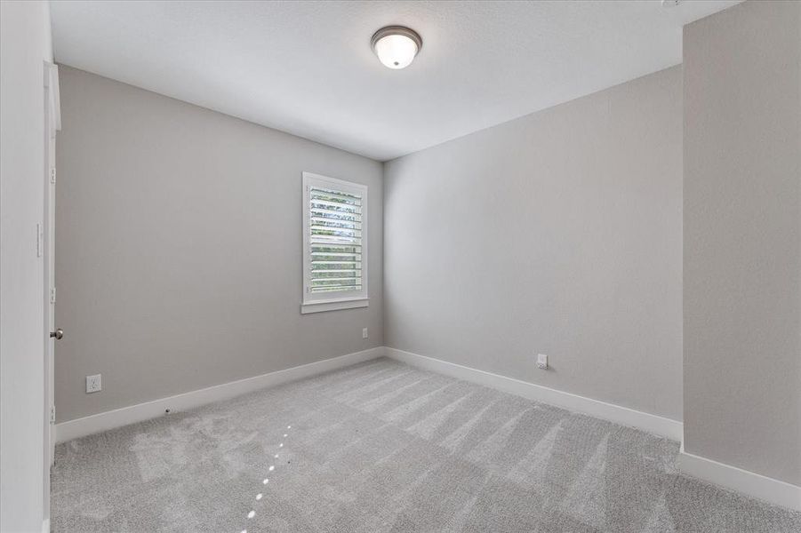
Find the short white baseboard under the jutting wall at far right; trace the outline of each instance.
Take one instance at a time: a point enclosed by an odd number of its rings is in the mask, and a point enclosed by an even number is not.
[[[678,453],[677,466],[682,473],[702,481],[736,490],[773,505],[783,505],[801,511],[801,487],[687,453],[684,442]]]

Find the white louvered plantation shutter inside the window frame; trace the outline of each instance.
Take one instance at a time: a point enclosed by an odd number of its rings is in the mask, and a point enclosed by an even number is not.
[[[308,186],[307,290],[311,294],[347,297],[362,291],[363,196],[326,184]],[[346,294],[333,294],[340,292]]]

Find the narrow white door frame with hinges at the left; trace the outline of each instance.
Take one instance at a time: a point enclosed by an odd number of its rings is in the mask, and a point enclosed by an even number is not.
[[[50,468],[55,451],[54,339],[55,331],[55,193],[56,132],[61,129],[59,68],[44,61],[44,211],[39,227],[38,252],[44,256],[44,439],[43,439],[43,503],[44,520],[50,519]]]

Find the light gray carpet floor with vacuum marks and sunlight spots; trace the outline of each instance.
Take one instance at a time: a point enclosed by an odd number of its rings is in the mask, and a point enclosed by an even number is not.
[[[677,452],[380,359],[61,444],[52,529],[801,531],[678,474]]]

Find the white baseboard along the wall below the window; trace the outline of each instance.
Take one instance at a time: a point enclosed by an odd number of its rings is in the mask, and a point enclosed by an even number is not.
[[[228,400],[242,394],[247,394],[269,386],[281,385],[297,379],[316,376],[329,370],[368,361],[384,355],[384,346],[377,346],[356,352],[354,354],[340,355],[324,361],[310,362],[308,364],[292,367],[286,370],[277,370],[268,374],[261,374],[253,378],[239,379],[223,383],[222,385],[176,394],[152,402],[139,403],[121,409],[105,411],[84,418],[76,418],[67,422],[56,424],[56,442],[68,442],[85,435],[96,434],[115,427],[127,426],[142,420],[157,418],[164,415],[164,410],[177,412],[189,410],[212,402]]]

